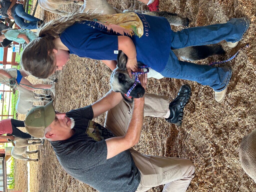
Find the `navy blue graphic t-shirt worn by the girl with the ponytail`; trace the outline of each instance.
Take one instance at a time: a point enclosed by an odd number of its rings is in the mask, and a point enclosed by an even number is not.
[[[117,60],[118,36],[129,36],[137,61],[161,72],[169,58],[171,28],[164,17],[138,13],[103,15],[68,27],[60,36],[71,54],[98,60]]]

